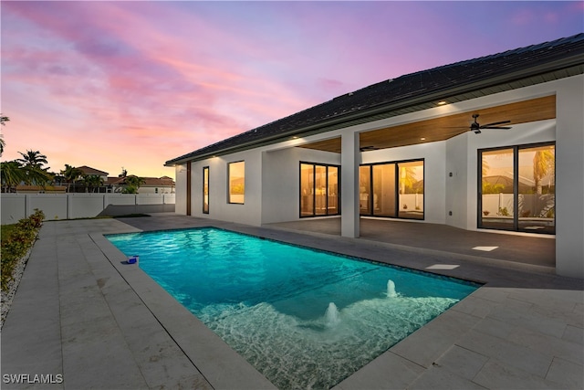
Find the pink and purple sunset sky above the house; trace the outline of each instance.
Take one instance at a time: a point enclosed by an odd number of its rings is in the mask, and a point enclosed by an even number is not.
[[[584,32],[584,2],[2,1],[2,161],[164,163],[385,79]]]

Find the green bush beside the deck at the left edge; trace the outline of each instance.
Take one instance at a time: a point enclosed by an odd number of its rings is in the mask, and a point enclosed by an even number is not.
[[[41,210],[35,209],[34,214],[21,219],[16,225],[8,229],[3,227],[7,234],[2,235],[2,277],[0,280],[2,290],[7,290],[8,283],[13,279],[12,274],[18,260],[26,255],[26,251],[35,242],[43,219],[45,219],[45,214]]]

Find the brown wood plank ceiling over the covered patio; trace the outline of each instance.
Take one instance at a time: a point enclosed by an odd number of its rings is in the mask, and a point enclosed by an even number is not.
[[[501,106],[466,111],[426,121],[416,121],[360,133],[361,150],[377,150],[413,145],[424,142],[444,141],[470,131],[473,114],[479,114],[480,124],[496,121],[511,121],[504,126],[529,121],[556,118],[556,96],[518,101]],[[484,132],[508,132],[507,130],[484,130]],[[479,135],[477,135],[479,136]],[[340,153],[340,137],[298,145],[301,148]]]

